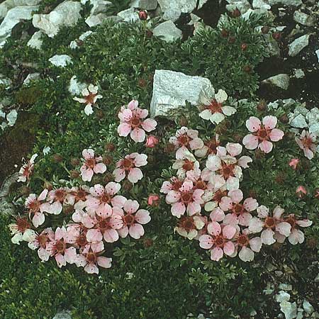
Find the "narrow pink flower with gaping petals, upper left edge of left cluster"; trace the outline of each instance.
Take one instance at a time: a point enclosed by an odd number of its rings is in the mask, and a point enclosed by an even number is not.
[[[30,219],[32,220],[35,228],[38,228],[45,222],[45,216],[43,212],[50,210],[50,205],[44,202],[46,197],[47,189],[43,190],[39,196],[30,194],[26,198],[25,206],[28,208]]]

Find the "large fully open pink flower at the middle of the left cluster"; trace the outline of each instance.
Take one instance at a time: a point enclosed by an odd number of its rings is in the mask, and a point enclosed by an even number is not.
[[[118,240],[118,232],[123,227],[123,210],[119,207],[104,205],[102,209],[96,211],[96,215],[92,218],[91,214],[84,214],[82,223],[86,228],[91,228],[86,233],[86,239],[89,242],[116,242]]]

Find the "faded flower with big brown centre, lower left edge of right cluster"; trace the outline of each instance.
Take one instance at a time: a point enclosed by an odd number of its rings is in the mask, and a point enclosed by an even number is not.
[[[193,240],[198,235],[198,230],[205,226],[203,216],[183,216],[177,223],[175,230],[179,235]]]

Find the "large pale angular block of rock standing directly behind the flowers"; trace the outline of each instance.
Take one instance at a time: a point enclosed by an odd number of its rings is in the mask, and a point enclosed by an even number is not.
[[[186,101],[192,105],[198,105],[202,94],[211,89],[209,79],[157,69],[150,105],[151,117],[172,116],[172,113],[182,111],[186,106]]]

